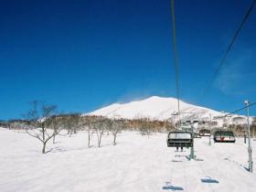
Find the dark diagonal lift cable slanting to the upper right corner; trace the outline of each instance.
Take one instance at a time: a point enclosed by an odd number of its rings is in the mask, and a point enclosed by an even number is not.
[[[231,39],[231,42],[229,43],[229,47],[227,48],[227,50],[225,51],[222,59],[220,60],[219,62],[219,66],[217,67],[217,69],[214,71],[213,73],[213,76],[212,76],[212,79],[210,80],[210,82],[208,83],[208,86],[207,88],[202,92],[202,98],[204,98],[206,96],[206,94],[208,93],[209,89],[211,88],[211,85],[213,83],[213,81],[216,79],[220,69],[222,68],[225,60],[227,59],[228,55],[229,55],[229,51],[230,49],[232,48],[236,38],[239,36],[240,34],[240,30],[241,28],[244,26],[244,24],[246,23],[246,21],[248,20],[250,14],[251,14],[251,11],[254,7],[254,5],[256,4],[256,0],[253,0],[246,15],[242,18],[241,22],[240,22],[240,26],[236,29],[235,33],[234,33],[234,36],[232,37]]]

